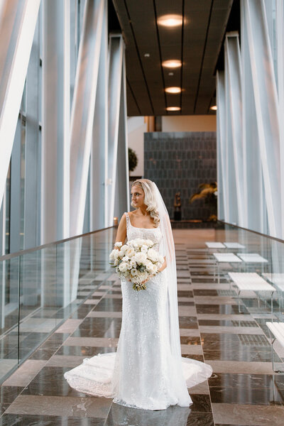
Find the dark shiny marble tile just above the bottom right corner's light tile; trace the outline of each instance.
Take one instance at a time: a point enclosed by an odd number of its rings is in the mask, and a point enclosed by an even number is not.
[[[272,388],[209,388],[212,403],[283,405],[284,390]]]

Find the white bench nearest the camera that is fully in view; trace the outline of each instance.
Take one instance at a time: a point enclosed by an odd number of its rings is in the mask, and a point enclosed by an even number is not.
[[[230,290],[231,290],[231,281],[238,288],[238,297],[241,291],[267,291],[271,293],[271,313],[273,312],[273,293],[275,288],[273,285],[269,284],[256,272],[229,272],[230,278]]]

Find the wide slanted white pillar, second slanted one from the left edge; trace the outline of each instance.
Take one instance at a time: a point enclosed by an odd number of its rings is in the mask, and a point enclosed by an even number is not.
[[[82,234],[106,0],[87,0],[71,114],[70,236]]]

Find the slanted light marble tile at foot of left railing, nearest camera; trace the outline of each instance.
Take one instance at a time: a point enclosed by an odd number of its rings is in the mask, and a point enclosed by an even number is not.
[[[45,366],[46,361],[38,359],[27,359],[9,378],[4,381],[3,386],[27,386]]]

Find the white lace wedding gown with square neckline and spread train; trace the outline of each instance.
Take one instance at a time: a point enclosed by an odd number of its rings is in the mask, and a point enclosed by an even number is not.
[[[151,239],[159,250],[160,228],[136,228],[126,213],[127,239]],[[163,254],[163,253],[161,253]],[[212,374],[211,366],[182,358],[182,369],[170,353],[168,289],[164,274],[146,283],[147,289],[133,290],[121,280],[122,323],[115,353],[84,359],[65,373],[77,391],[106,398],[114,403],[145,410],[165,410],[170,405],[188,407],[192,400],[187,387]]]

